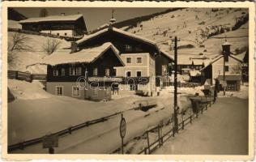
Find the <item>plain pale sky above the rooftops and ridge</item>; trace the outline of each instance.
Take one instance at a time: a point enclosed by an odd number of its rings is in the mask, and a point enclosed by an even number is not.
[[[64,7],[51,7],[46,8],[48,15],[66,15],[83,14],[87,30],[90,31],[94,28],[100,27],[102,24],[108,23],[111,19],[111,12],[114,9],[114,18],[117,22],[138,17],[141,15],[150,15],[159,11],[167,10],[167,8],[64,8]],[[30,17],[39,17],[41,8],[38,7],[19,7],[15,8],[22,15]]]

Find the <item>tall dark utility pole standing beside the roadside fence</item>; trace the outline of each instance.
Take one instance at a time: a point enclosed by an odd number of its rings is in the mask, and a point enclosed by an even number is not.
[[[174,108],[173,108],[173,119],[174,129],[178,132],[178,120],[177,120],[177,36],[174,38]]]

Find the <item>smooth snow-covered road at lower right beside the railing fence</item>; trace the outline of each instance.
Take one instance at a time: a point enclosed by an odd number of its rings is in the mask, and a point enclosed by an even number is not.
[[[155,154],[247,154],[248,107],[248,100],[219,98],[211,109]]]

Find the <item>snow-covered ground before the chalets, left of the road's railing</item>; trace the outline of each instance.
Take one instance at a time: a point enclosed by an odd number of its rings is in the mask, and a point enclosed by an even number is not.
[[[152,126],[160,122],[167,122],[173,114],[173,87],[160,91],[160,96],[135,96],[134,92],[121,92],[114,95],[109,102],[93,102],[77,100],[66,96],[53,96],[41,88],[41,83],[28,83],[9,79],[11,93],[16,100],[8,104],[8,145],[28,139],[35,139],[45,134],[64,130],[70,126],[105,117],[113,113],[124,111],[126,117],[126,152],[138,153],[145,147],[146,140],[138,137]],[[30,88],[28,88],[30,87]],[[178,92],[178,106],[180,110],[191,108],[187,95],[199,93],[203,95],[203,87],[181,87]],[[248,92],[241,87],[241,92]],[[237,93],[239,94],[239,92]],[[128,100],[129,99],[129,100]],[[146,112],[129,110],[138,107],[143,100],[156,102],[157,107]],[[180,116],[179,116],[180,117]],[[72,134],[59,139],[56,153],[111,153],[120,147],[119,122],[121,115],[113,116],[108,121],[76,130]],[[156,139],[156,134],[150,134],[150,139]],[[47,153],[41,148],[41,143],[15,153]]]

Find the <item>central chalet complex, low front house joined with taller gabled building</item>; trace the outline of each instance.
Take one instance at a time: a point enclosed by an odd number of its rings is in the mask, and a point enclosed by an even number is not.
[[[109,96],[109,89],[114,88],[142,91],[150,96],[163,84],[170,62],[173,58],[154,41],[110,25],[72,42],[69,51],[45,58],[46,90],[60,96],[91,100],[99,98],[100,90],[102,97]],[[79,80],[81,77],[85,79]],[[83,82],[80,87],[78,80]],[[81,88],[84,83],[86,88]]]

